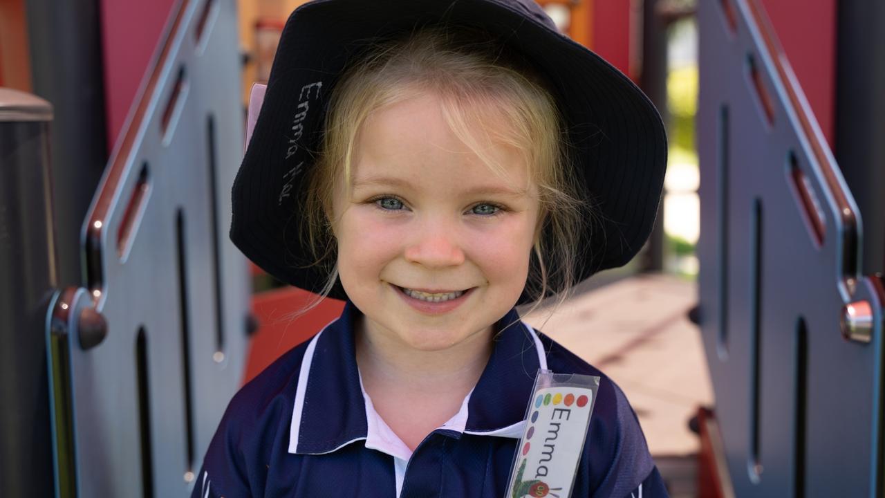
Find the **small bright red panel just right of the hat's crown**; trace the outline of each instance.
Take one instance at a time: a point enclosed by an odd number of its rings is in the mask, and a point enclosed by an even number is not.
[[[630,74],[630,0],[596,0],[590,47],[624,74]]]

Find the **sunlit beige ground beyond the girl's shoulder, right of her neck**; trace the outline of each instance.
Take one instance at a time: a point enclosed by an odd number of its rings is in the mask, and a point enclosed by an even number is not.
[[[652,455],[689,456],[699,449],[689,418],[713,404],[700,331],[687,317],[695,302],[693,282],[632,276],[525,319],[620,385]]]

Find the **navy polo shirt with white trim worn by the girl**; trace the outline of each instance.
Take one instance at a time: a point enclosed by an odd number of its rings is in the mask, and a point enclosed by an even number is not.
[[[602,377],[572,496],[666,496],[620,388],[515,310],[498,322],[503,331],[458,414],[411,452],[362,388],[353,339],[359,313],[348,303],[235,394],[194,498],[502,498],[539,368]]]

